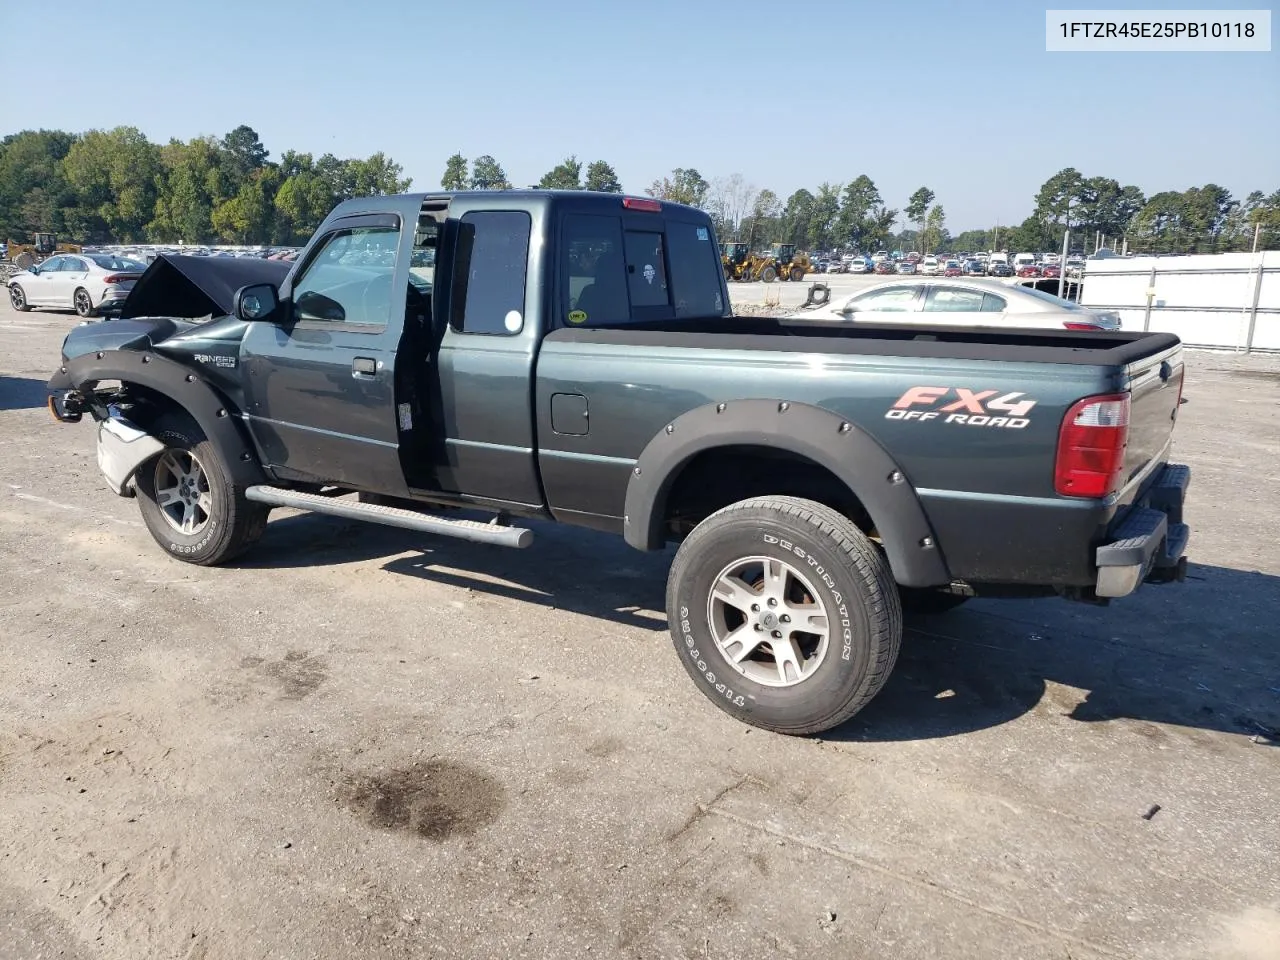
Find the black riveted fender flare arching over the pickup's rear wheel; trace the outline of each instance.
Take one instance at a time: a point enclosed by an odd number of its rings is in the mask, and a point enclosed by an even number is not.
[[[838,413],[788,401],[708,403],[667,424],[631,471],[623,517],[627,543],[662,549],[667,497],[680,471],[699,453],[733,445],[772,447],[826,467],[867,508],[899,584],[951,582],[920,498],[890,453]]]

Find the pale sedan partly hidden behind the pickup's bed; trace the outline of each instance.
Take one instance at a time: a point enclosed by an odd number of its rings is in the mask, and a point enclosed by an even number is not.
[[[997,280],[902,279],[788,314],[792,320],[1119,330],[1120,316]]]

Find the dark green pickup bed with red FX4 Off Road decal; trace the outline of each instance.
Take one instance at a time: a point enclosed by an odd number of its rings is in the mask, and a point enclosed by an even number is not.
[[[1178,338],[1162,333],[735,317],[554,330],[536,371],[539,468],[562,518],[621,530],[632,468],[667,424],[705,404],[788,401],[846,419],[892,454],[957,577],[1085,584],[1088,553],[1056,544],[1101,541],[1167,460],[1181,361]],[[1033,407],[1018,424],[992,422],[998,406],[978,407],[992,416],[973,422],[946,412],[922,421],[895,408],[915,388],[948,393],[913,413],[977,394]],[[1059,495],[1053,463],[1066,411],[1124,392],[1133,403],[1124,489],[1107,499]],[[589,433],[556,429],[547,415],[554,394],[589,403]]]

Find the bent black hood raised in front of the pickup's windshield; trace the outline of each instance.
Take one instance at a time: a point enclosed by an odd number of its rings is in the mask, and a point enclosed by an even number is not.
[[[232,312],[236,291],[251,283],[279,285],[292,264],[259,257],[191,257],[161,253],[134,282],[122,319],[173,316],[198,319]]]

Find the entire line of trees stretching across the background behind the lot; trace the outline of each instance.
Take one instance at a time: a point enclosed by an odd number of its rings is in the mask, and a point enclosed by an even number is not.
[[[306,241],[325,215],[349,197],[398,193],[411,179],[381,152],[365,159],[285,151],[278,161],[248,125],[223,137],[152,143],[134,127],[67,133],[23,131],[0,140],[0,239],[51,230],[81,242],[279,243]],[[449,191],[512,189],[490,155],[445,161]],[[621,193],[613,166],[570,155],[543,174],[543,189]],[[705,210],[724,241],[751,246],[795,243],[804,250],[879,248],[952,252],[1052,251],[1070,229],[1073,248],[1092,252],[1098,236],[1111,246],[1155,253],[1208,253],[1280,247],[1280,189],[1236,200],[1219,184],[1162,191],[1065,168],[1036,193],[1020,224],[947,230],[946,212],[928,187],[891,207],[876,182],[859,174],[794,191],[785,201],[741,174],[708,180],[676,168],[645,193]],[[902,227],[899,227],[899,223]]]

